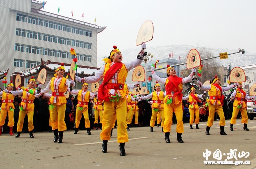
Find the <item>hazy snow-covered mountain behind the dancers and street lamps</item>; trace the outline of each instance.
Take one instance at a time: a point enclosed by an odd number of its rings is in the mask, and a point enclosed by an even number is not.
[[[152,61],[161,60],[169,57],[169,53],[173,54],[173,59],[179,60],[179,56],[181,57],[181,61],[187,58],[187,54],[191,49],[197,49],[195,46],[191,45],[170,45],[170,46],[156,46],[156,47],[147,47],[147,52],[151,52],[154,55]],[[120,49],[121,50],[121,49]],[[122,49],[123,55],[123,63],[134,60],[139,52],[140,48],[133,49]],[[238,49],[227,49],[227,48],[207,48],[208,51],[214,53],[214,56],[219,56],[219,53],[227,52],[228,54],[238,52]],[[109,53],[109,52],[108,52]],[[200,53],[199,53],[200,54]],[[108,56],[108,55],[105,55]],[[104,56],[98,56],[98,67],[101,67],[104,63],[102,58]],[[203,61],[202,61],[203,63]],[[231,63],[232,67],[238,66],[248,66],[256,64],[256,53],[250,53],[246,51],[245,54],[237,53],[233,55],[229,55],[228,59],[219,60],[219,65],[223,65],[227,67]]]

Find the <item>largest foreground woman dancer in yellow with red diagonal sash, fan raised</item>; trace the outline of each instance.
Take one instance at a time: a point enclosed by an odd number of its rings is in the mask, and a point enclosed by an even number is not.
[[[143,49],[146,48],[146,44],[142,44]],[[144,52],[141,51],[140,55],[143,56]],[[89,76],[80,78],[76,76],[76,80],[79,82],[97,82],[103,77],[103,82],[98,90],[98,99],[104,100],[104,110],[102,119],[102,132],[100,133],[100,139],[103,140],[102,152],[107,152],[107,140],[110,140],[110,132],[114,124],[115,114],[117,115],[117,142],[120,143],[120,156],[125,155],[125,143],[128,142],[128,133],[126,130],[126,117],[127,117],[127,105],[126,96],[128,91],[124,90],[125,79],[128,71],[138,66],[142,60],[136,59],[129,63],[122,63],[122,53],[116,46],[114,50],[110,52],[110,55],[104,59],[106,64],[102,66],[95,76]]]

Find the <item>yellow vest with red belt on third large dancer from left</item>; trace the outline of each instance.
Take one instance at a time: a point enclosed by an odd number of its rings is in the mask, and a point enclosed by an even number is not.
[[[54,79],[57,78],[57,77],[53,77],[52,80],[51,80],[51,90],[52,92],[55,92],[54,91]],[[61,78],[61,82],[58,86],[58,92],[66,92],[67,91],[67,86],[66,86],[66,78],[65,77],[62,77]],[[52,96],[50,98],[50,103],[53,104],[53,101],[54,101],[54,97],[56,97],[56,103],[58,105],[61,105],[61,104],[67,104],[67,100],[66,100],[66,97],[65,96]]]

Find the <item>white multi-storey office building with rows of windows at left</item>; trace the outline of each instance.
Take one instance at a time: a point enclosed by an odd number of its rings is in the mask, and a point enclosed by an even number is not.
[[[76,51],[78,65],[97,67],[97,34],[105,27],[42,11],[42,7],[43,2],[35,0],[1,1],[1,71],[14,72],[16,67],[29,71],[40,65],[41,58],[71,63],[70,48]]]

